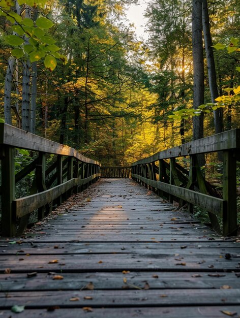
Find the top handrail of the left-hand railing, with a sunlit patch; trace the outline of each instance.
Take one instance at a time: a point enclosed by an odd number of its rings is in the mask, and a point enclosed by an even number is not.
[[[83,156],[71,147],[28,133],[6,123],[0,123],[0,144],[47,153],[73,156],[81,162],[99,165],[97,161]]]

